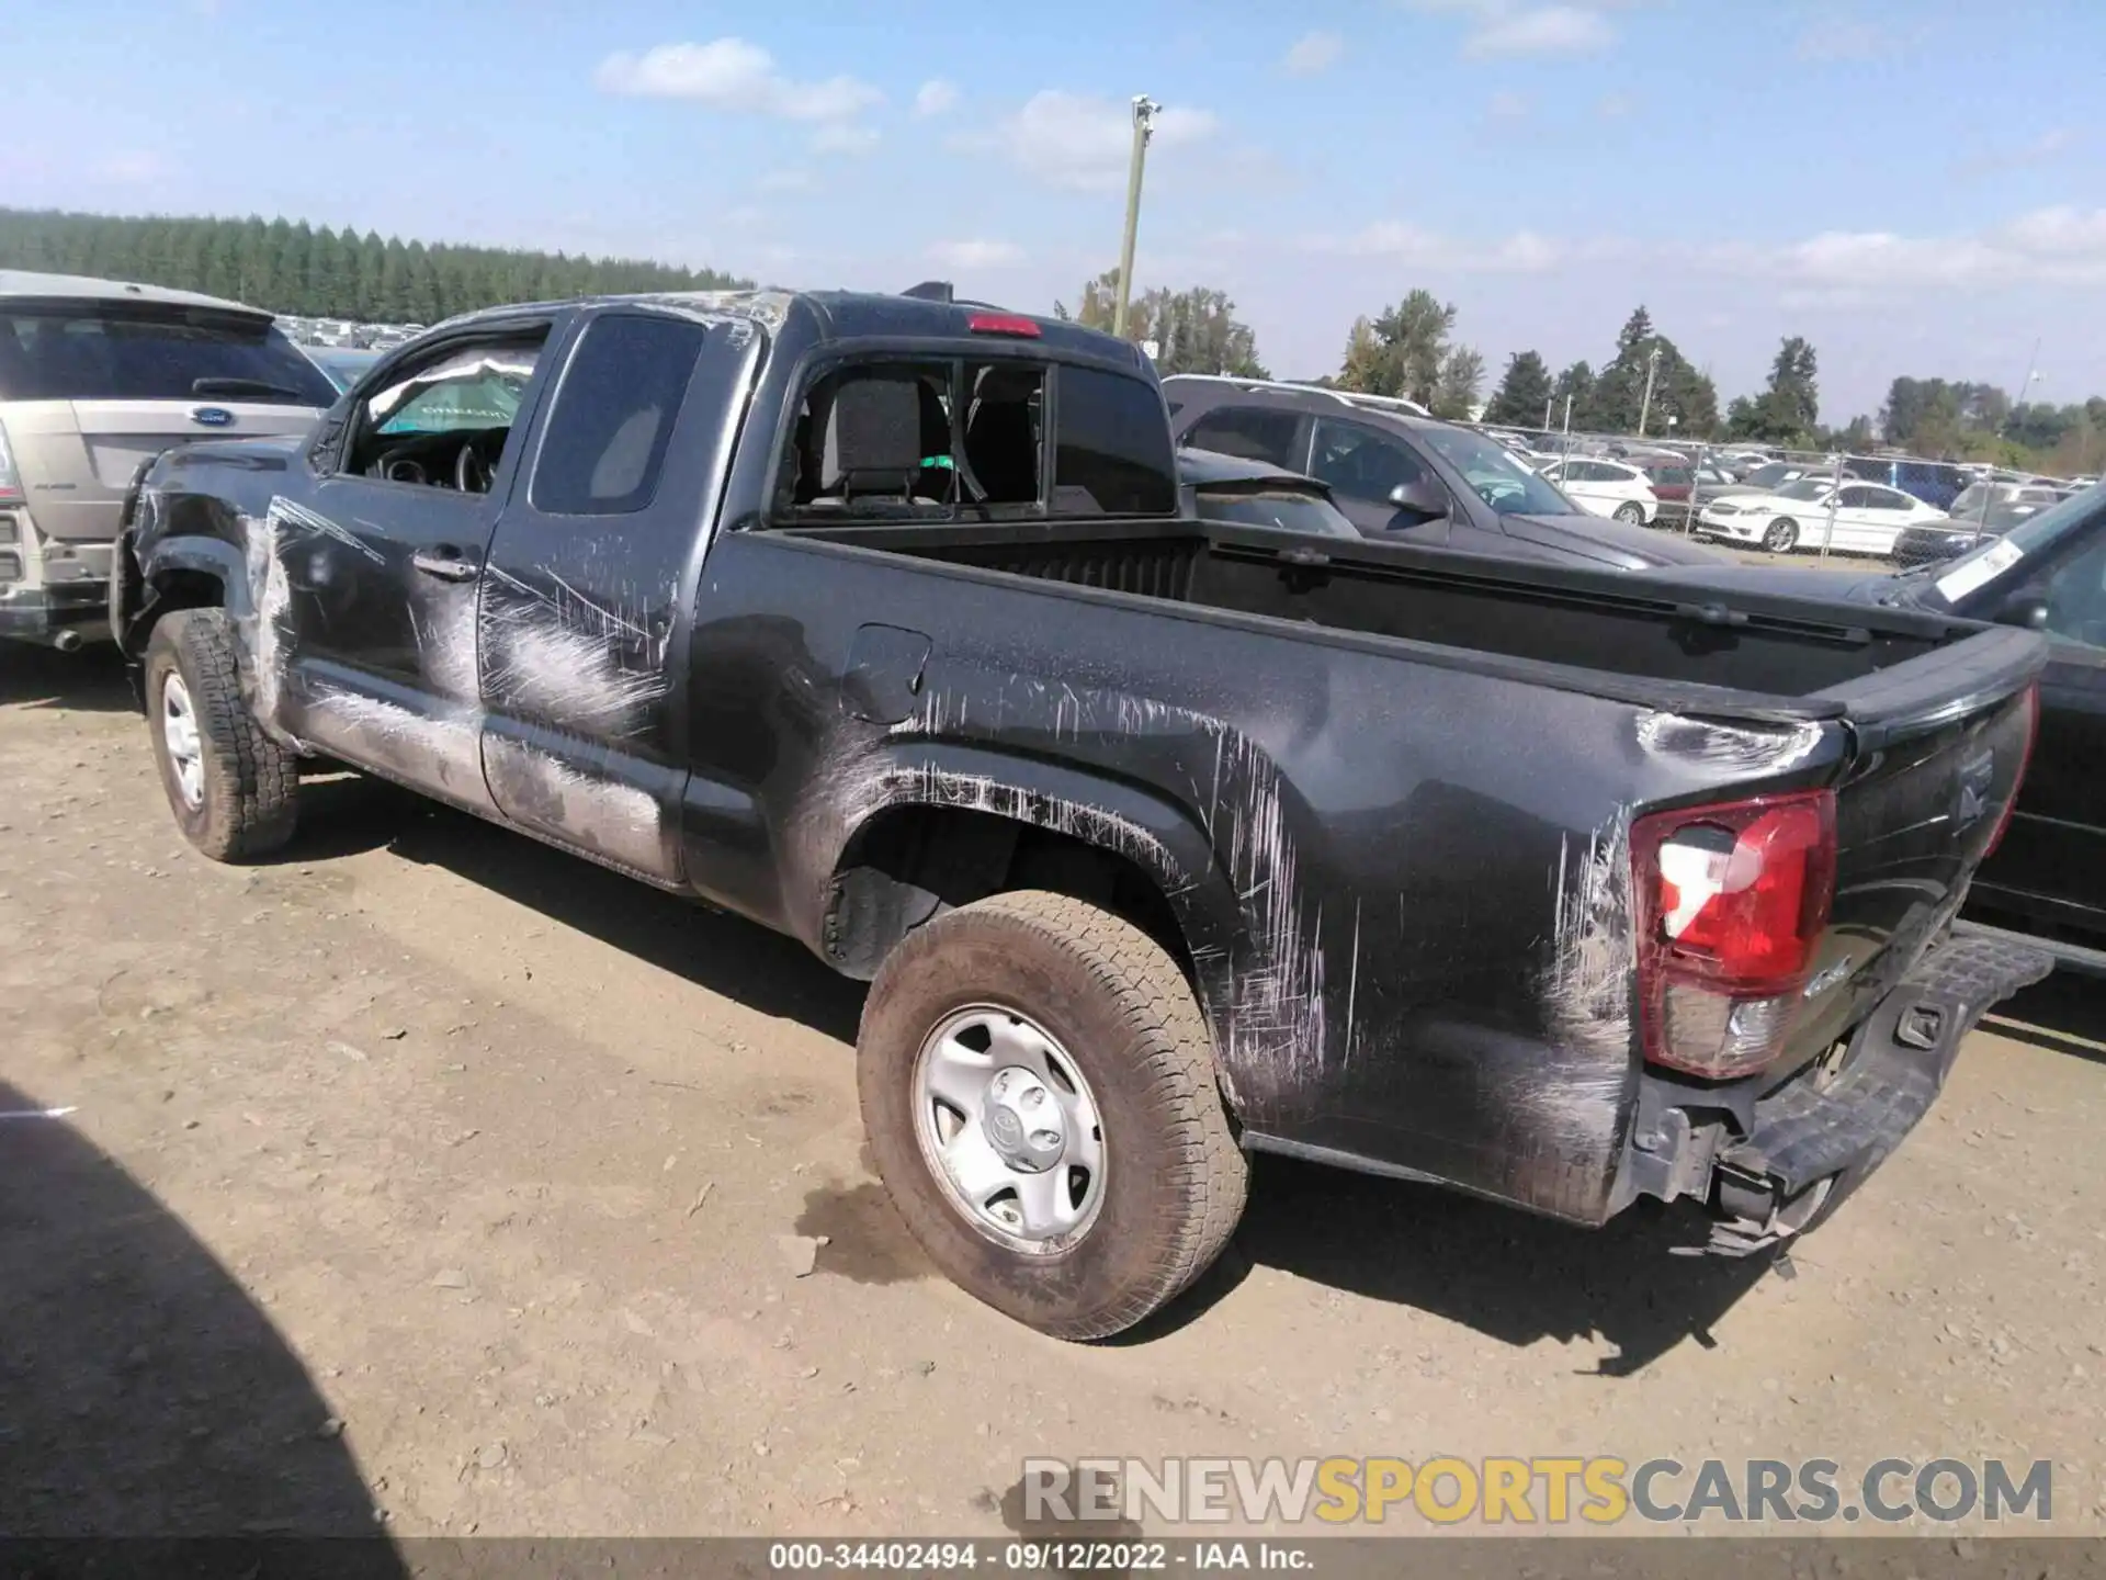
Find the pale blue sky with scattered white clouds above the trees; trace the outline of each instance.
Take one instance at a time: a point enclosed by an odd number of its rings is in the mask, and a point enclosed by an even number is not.
[[[0,13],[0,202],[284,213],[1045,310],[1217,284],[1276,373],[1413,287],[1493,373],[1645,301],[1721,394],[2106,392],[2100,0],[802,0]]]

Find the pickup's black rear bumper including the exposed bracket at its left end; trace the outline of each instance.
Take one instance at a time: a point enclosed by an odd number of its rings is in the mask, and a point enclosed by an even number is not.
[[[1855,1190],[1931,1110],[1961,1041],[2001,999],[2041,982],[2053,959],[2024,940],[1956,935],[1933,948],[1822,1060],[1752,1104],[1657,1095],[1641,1119],[1641,1194],[1702,1197],[1714,1256],[1777,1245]],[[1706,1123],[1695,1123],[1702,1114]]]

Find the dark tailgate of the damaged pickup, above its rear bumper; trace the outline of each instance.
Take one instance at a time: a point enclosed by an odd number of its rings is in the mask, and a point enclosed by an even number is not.
[[[1845,704],[1836,887],[1790,1070],[1885,996],[1952,919],[2018,794],[2047,645],[1986,628],[1815,693]]]

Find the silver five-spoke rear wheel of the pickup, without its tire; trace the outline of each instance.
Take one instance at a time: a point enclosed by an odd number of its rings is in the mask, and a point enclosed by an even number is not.
[[[1015,1009],[971,1005],[922,1039],[914,1140],[943,1199],[996,1245],[1051,1256],[1104,1205],[1106,1146],[1080,1066]]]

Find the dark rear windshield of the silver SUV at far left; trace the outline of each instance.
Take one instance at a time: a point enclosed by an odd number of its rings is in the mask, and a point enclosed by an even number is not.
[[[329,377],[267,320],[133,303],[0,310],[0,400],[335,398]]]

